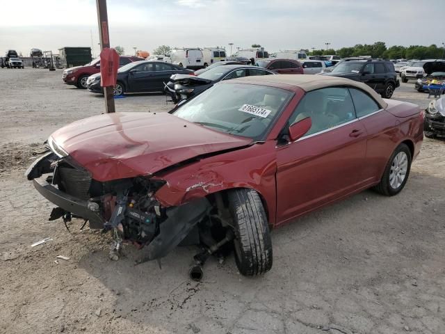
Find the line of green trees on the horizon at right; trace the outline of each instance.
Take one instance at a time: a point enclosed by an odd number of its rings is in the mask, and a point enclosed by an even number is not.
[[[306,50],[309,54],[323,56],[327,54],[337,54],[341,58],[353,56],[371,56],[372,58],[385,59],[436,59],[444,58],[444,48],[432,44],[429,47],[423,45],[411,45],[403,47],[394,45],[388,47],[385,42],[375,42],[374,44],[357,44],[354,47],[342,47],[341,49],[314,49],[312,52]]]

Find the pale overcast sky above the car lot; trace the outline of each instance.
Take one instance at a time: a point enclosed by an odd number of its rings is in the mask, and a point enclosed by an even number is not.
[[[13,1],[0,10],[0,52],[29,55],[32,47],[94,47],[99,51],[95,0]],[[268,51],[338,49],[383,41],[391,45],[445,42],[445,0],[108,0],[112,46],[236,47]],[[43,6],[42,3],[45,3]],[[19,8],[17,8],[17,6]]]

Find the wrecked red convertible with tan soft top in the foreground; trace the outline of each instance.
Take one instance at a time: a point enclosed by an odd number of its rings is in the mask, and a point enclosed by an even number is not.
[[[138,262],[200,244],[234,249],[246,276],[272,267],[269,230],[373,187],[405,186],[423,140],[419,106],[338,77],[222,81],[170,113],[112,113],[51,134],[27,170],[57,207],[145,246]],[[199,278],[200,273],[192,271]]]

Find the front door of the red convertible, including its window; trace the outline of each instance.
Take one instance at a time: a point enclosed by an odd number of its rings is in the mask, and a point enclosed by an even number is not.
[[[277,223],[312,211],[363,184],[366,132],[347,88],[307,93],[289,125],[310,117],[302,138],[277,145]]]

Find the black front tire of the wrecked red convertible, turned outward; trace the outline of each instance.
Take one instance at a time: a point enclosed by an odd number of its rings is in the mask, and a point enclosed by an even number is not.
[[[257,276],[272,268],[272,241],[266,212],[252,189],[229,192],[229,210],[235,228],[236,267],[243,276]]]

